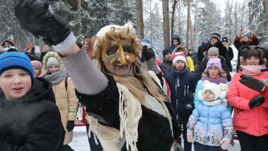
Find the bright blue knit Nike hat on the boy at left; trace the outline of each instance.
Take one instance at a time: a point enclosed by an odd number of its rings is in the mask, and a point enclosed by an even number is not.
[[[0,76],[11,69],[21,69],[34,78],[34,68],[29,57],[20,52],[7,52],[0,55]]]

